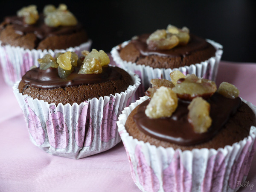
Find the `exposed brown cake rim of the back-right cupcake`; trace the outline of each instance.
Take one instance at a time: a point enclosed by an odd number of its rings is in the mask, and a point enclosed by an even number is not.
[[[164,57],[159,55],[144,56],[140,54],[140,51],[136,49],[134,44],[129,43],[123,47],[119,54],[122,60],[131,61],[132,63],[151,66],[153,68],[178,68],[183,66],[189,66],[191,64],[201,63],[209,58],[215,56],[216,49],[209,44],[209,46],[203,50],[194,51],[186,57]]]

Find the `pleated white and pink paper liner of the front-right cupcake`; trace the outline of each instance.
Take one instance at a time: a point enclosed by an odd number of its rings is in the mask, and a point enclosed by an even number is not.
[[[244,183],[256,148],[256,127],[232,146],[192,151],[156,147],[130,136],[125,122],[131,111],[148,99],[125,108],[117,122],[134,183],[143,192],[235,192]],[[256,107],[242,99],[255,113]]]

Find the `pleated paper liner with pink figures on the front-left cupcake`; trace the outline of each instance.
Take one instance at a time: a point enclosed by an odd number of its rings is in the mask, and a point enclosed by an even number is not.
[[[93,98],[82,102],[56,106],[22,95],[13,89],[23,111],[32,143],[49,154],[80,159],[106,151],[120,142],[117,117],[129,104],[140,79],[129,72],[134,85],[114,96]]]

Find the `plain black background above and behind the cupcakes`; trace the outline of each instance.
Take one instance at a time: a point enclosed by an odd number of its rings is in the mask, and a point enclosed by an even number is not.
[[[111,48],[134,35],[187,26],[224,47],[222,60],[256,62],[256,0],[84,0],[0,1],[0,19],[23,6],[65,3],[84,24],[92,48]]]

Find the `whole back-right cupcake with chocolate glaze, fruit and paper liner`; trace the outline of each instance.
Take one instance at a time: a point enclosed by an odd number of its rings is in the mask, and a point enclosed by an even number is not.
[[[111,54],[117,66],[137,73],[142,79],[137,94],[139,99],[150,86],[151,79],[171,80],[172,70],[215,80],[222,46],[189,33],[186,27],[178,29],[168,25],[167,29],[125,41],[114,47]]]

